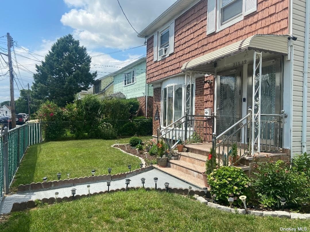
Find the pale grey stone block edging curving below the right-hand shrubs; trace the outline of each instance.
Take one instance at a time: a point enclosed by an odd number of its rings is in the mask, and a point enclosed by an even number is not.
[[[199,201],[201,204],[206,204],[210,208],[217,208],[219,210],[222,210],[224,212],[229,213],[237,213],[237,214],[250,214],[255,216],[262,216],[262,217],[285,217],[285,218],[291,218],[291,219],[310,219],[310,213],[289,213],[286,211],[258,211],[258,210],[251,210],[248,209],[247,213],[245,209],[240,208],[230,208],[228,206],[216,204],[213,202],[208,202],[206,199],[204,199],[202,196],[194,195],[194,198],[196,198],[197,201]]]

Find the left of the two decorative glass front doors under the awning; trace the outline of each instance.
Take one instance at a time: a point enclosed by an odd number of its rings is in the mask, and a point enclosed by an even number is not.
[[[241,70],[235,69],[219,73],[217,76],[217,115],[219,123],[217,123],[217,134],[221,134],[226,129],[235,124],[241,115]],[[233,131],[229,131],[226,135],[231,135]],[[237,135],[237,137],[239,137]]]

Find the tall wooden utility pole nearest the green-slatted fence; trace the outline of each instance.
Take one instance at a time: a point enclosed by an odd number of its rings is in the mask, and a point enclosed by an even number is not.
[[[10,36],[10,33],[7,32],[7,57],[9,58],[11,120],[12,120],[12,129],[13,129],[16,127],[16,120],[15,120],[15,100],[14,100],[14,74],[13,74],[12,58],[11,58],[11,46],[12,46],[12,37]]]

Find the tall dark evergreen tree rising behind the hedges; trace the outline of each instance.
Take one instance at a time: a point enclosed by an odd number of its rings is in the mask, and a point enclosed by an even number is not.
[[[76,93],[87,90],[94,82],[97,72],[91,73],[90,67],[91,57],[86,47],[80,46],[70,34],[61,37],[52,45],[42,64],[36,65],[32,96],[63,107],[73,102]]]

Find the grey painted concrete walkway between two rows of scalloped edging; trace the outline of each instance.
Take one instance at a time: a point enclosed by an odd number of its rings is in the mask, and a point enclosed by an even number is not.
[[[128,185],[128,187],[140,187],[142,186],[141,178],[145,178],[145,184],[144,187],[155,187],[155,183],[153,178],[157,177],[157,187],[158,188],[164,188],[164,183],[168,182],[169,187],[174,188],[188,188],[191,186],[193,190],[199,190],[197,187],[188,184],[182,180],[179,180],[178,178],[175,178],[173,176],[170,176],[169,174],[163,173],[159,170],[153,169],[144,173],[137,174],[135,176],[130,177],[131,182]],[[96,182],[96,183],[88,183],[91,185],[90,192],[100,192],[108,190],[107,183],[104,182]],[[88,194],[87,185],[88,184],[81,184],[76,185],[74,187],[64,187],[64,188],[58,188],[58,189],[52,189],[52,190],[44,190],[44,191],[37,191],[37,192],[24,192],[20,194],[13,194],[13,195],[7,195],[2,200],[2,203],[0,204],[0,214],[2,213],[10,213],[13,203],[15,202],[25,202],[28,200],[36,200],[36,199],[43,199],[43,198],[50,198],[55,197],[55,192],[59,192],[58,197],[69,197],[71,195],[71,189],[76,188],[76,194],[82,195],[82,194]],[[111,182],[110,190],[112,189],[120,189],[126,187],[125,179],[116,180]]]

